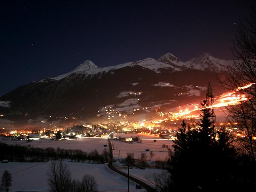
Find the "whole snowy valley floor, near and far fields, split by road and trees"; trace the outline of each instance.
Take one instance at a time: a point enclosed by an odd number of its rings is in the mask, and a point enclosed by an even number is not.
[[[134,142],[132,144],[121,142],[118,140],[112,140],[112,145],[114,144],[115,150],[113,150],[113,155],[115,158],[119,156],[125,158],[128,152],[133,152],[135,158],[140,158],[140,154],[145,152],[149,157],[149,152],[145,151],[149,148],[153,151],[155,156],[152,160],[162,159],[164,160],[168,156],[167,148],[162,148],[162,144],[168,145],[172,148],[172,140],[161,140],[159,137],[147,135],[147,134],[137,134],[141,139],[141,143]],[[132,134],[131,136],[134,136]],[[159,139],[154,142],[154,139]],[[104,148],[109,149],[108,140],[106,138],[80,138],[77,140],[34,140],[32,142],[26,141],[15,141],[0,139],[0,142],[6,144],[19,144],[21,146],[33,146],[40,148],[65,148],[65,149],[80,149],[85,152],[91,152],[96,149],[99,153],[102,153]],[[107,147],[104,145],[107,145]],[[148,159],[149,160],[149,159]],[[110,170],[106,164],[88,164],[88,163],[74,163],[66,161],[68,167],[72,172],[72,177],[81,180],[84,174],[91,174],[96,178],[98,183],[99,192],[124,192],[127,191],[128,181],[127,178],[121,176],[120,174]],[[11,162],[8,164],[0,163],[0,176],[4,170],[8,170],[13,177],[12,186],[10,192],[36,192],[36,191],[48,191],[47,184],[47,172],[49,169],[49,162],[43,163],[18,163]],[[121,168],[122,169],[122,168]],[[127,173],[127,170],[122,169],[123,172]],[[161,169],[151,169],[151,176],[155,173],[160,173]],[[149,184],[152,183],[149,180],[149,170],[140,169],[130,169],[130,174],[135,178]],[[136,190],[135,183],[130,181],[130,191],[142,192],[144,189]]]

